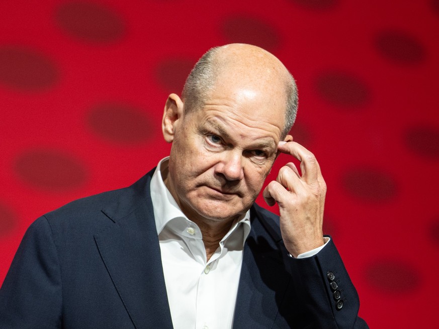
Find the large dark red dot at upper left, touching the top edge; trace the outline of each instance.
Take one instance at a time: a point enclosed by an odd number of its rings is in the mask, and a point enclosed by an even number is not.
[[[122,18],[97,3],[69,2],[58,8],[55,17],[62,30],[86,41],[108,43],[121,39],[125,34]]]

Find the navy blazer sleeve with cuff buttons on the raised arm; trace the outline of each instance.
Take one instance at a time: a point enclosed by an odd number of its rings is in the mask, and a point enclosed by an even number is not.
[[[358,316],[360,301],[340,255],[331,241],[316,255],[289,260],[292,288],[300,296],[303,327],[368,328]],[[302,327],[296,323],[297,327]]]

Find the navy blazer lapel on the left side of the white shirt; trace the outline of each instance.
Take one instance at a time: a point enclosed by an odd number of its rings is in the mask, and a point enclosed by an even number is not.
[[[149,179],[140,196],[134,197],[137,202],[119,200],[103,210],[114,224],[95,241],[134,326],[172,328]]]

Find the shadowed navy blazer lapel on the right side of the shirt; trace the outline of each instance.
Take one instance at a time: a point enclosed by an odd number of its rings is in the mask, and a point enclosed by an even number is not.
[[[270,232],[270,233],[269,233]],[[251,231],[244,254],[233,328],[271,328],[278,315],[291,275],[285,270],[280,236],[251,209]]]

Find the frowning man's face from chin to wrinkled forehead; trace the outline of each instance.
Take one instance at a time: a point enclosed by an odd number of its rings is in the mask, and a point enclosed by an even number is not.
[[[203,108],[175,121],[165,183],[190,219],[228,220],[249,209],[285,122],[285,94],[277,89],[220,84]]]

